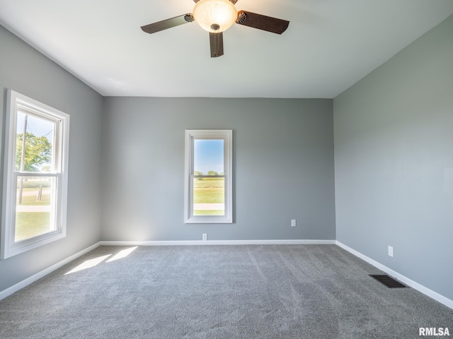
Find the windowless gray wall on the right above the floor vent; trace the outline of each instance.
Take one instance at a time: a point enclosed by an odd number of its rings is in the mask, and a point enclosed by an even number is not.
[[[449,299],[452,37],[453,16],[333,100],[338,241]]]

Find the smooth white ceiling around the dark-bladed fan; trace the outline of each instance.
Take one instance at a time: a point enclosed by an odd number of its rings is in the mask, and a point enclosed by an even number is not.
[[[453,0],[239,0],[289,28],[233,25],[218,58],[195,22],[140,30],[194,5],[0,0],[0,23],[105,96],[333,98],[453,13]]]

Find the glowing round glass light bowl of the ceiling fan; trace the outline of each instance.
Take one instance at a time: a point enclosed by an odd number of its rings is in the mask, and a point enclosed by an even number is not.
[[[193,17],[202,29],[224,32],[238,18],[238,11],[229,0],[200,0],[193,8]]]

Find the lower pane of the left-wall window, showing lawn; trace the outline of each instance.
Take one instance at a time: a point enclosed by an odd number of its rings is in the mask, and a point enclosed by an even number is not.
[[[55,182],[55,177],[18,177],[14,242],[56,230]]]

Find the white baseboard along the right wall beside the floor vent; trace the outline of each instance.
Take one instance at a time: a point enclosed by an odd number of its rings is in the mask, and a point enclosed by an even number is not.
[[[361,254],[360,252],[355,251],[355,249],[351,249],[350,247],[346,246],[341,242],[336,241],[336,244],[340,246],[342,249],[345,249],[346,251],[350,252],[350,254],[354,254],[355,256],[366,261],[367,263],[372,264],[372,266],[379,268],[379,270],[384,271],[385,273],[395,278],[396,280],[401,281],[401,283],[404,283],[409,287],[412,287],[414,290],[418,290],[418,292],[422,292],[424,295],[428,295],[428,297],[435,299],[437,302],[440,302],[441,304],[444,304],[446,307],[453,309],[453,300],[448,299],[447,297],[444,297],[443,295],[440,295],[439,293],[434,292],[433,290],[430,290],[428,287],[416,283],[415,281],[407,278],[406,276],[396,272],[395,270],[392,270],[391,268],[388,268],[387,266],[382,265],[382,263],[379,263],[373,260],[372,258],[369,258],[368,256],[365,256],[365,254]]]

